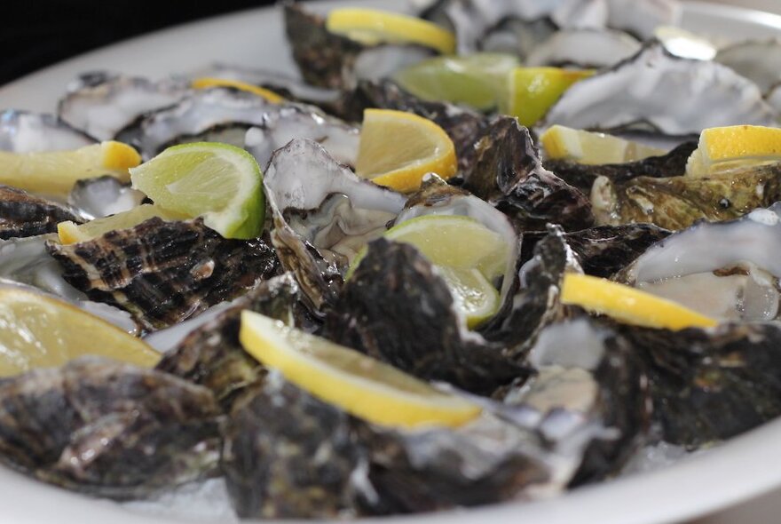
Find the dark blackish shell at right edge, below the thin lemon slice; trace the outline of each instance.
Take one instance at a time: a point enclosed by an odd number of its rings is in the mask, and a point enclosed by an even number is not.
[[[781,415],[781,328],[619,329],[643,355],[664,441],[697,448]]]

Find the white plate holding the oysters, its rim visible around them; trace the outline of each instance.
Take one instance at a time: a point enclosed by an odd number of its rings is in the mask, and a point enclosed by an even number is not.
[[[335,3],[319,3],[326,8]],[[392,0],[364,5],[398,9]],[[109,69],[163,77],[221,60],[293,71],[280,13],[258,9],[160,31],[74,60],[0,88],[0,107],[53,111],[76,74]],[[691,2],[683,27],[728,36],[781,35],[781,16]],[[661,524],[689,520],[781,488],[781,420],[764,425],[706,455],[635,477],[580,488],[556,499],[485,509],[406,517],[383,522],[430,524]],[[781,496],[781,495],[779,495]],[[51,488],[0,468],[0,522],[4,524],[155,524],[107,501]],[[289,522],[289,521],[288,521]]]

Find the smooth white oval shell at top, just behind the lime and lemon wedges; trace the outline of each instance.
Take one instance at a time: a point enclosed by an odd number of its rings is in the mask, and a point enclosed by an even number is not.
[[[568,29],[556,31],[526,56],[529,67],[600,68],[619,63],[640,51],[632,36],[615,30]]]

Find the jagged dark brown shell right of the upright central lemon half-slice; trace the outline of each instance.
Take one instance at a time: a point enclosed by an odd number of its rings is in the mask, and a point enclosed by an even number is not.
[[[542,167],[529,131],[517,119],[493,121],[475,145],[464,187],[513,218],[522,230],[549,223],[567,231],[594,223],[588,197]]]

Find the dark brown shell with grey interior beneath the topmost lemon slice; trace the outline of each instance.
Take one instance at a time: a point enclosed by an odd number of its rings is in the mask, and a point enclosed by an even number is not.
[[[304,80],[318,87],[349,90],[359,80],[380,80],[436,54],[419,45],[367,45],[335,35],[325,20],[300,4],[285,4],[284,14],[293,58]]]

